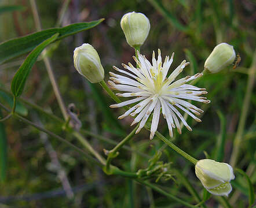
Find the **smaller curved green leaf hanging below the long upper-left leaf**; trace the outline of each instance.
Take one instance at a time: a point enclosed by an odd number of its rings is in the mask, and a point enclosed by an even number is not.
[[[30,74],[32,66],[35,64],[38,55],[41,54],[47,45],[56,40],[57,37],[58,34],[55,34],[51,38],[46,39],[44,42],[39,44],[39,46],[37,46],[30,54],[28,54],[27,58],[13,77],[11,90],[14,96],[18,97],[22,94],[27,77]]]

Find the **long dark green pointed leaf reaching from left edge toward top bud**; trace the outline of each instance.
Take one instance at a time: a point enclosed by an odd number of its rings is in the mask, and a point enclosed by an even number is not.
[[[0,64],[14,57],[25,54],[33,50],[44,40],[52,37],[54,34],[60,34],[56,40],[63,39],[67,36],[74,35],[78,32],[85,31],[100,24],[104,19],[92,21],[89,23],[75,23],[63,28],[45,29],[41,32],[8,40],[0,44]]]

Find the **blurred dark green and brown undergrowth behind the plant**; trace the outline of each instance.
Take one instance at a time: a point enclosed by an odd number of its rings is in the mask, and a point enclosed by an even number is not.
[[[100,55],[107,81],[112,65],[120,68],[121,63],[133,62],[134,50],[126,43],[120,28],[120,18],[132,11],[144,13],[151,23],[149,36],[141,47],[141,53],[150,59],[152,51],[157,51],[158,48],[163,56],[171,55],[174,51],[171,69],[184,59],[191,62],[181,76],[202,72],[204,61],[216,44],[232,44],[242,58],[240,65],[234,67],[235,69],[231,66],[220,73],[204,76],[196,84],[198,87],[207,88],[207,98],[211,103],[201,105],[205,112],[203,122],[196,124],[192,119],[188,119],[188,124],[193,126],[192,133],[183,129],[182,135],[178,135],[175,130],[173,139],[175,144],[198,159],[206,157],[203,151],[214,158],[218,148],[221,148],[218,142],[221,139],[224,142],[221,161],[229,162],[247,93],[249,69],[255,68],[255,1],[38,0],[36,4],[42,29],[56,27],[65,3],[69,4],[60,27],[105,18],[97,27],[53,43],[48,50],[65,105],[74,103],[82,128],[103,136],[99,138],[85,132],[86,138],[101,154],[103,148],[111,149],[114,147],[113,141],[120,141],[133,129],[130,127],[131,118],[117,120],[123,110],[109,109],[108,106],[113,101],[100,86],[90,84],[76,72],[73,65],[75,47],[82,43],[94,46]],[[3,0],[0,7],[2,5],[20,5],[22,8],[0,13],[0,42],[36,31],[30,1]],[[0,65],[2,89],[10,91],[14,73],[24,58],[25,56],[22,56]],[[40,58],[32,68],[23,98],[55,116],[62,117],[45,65]],[[8,93],[0,91],[0,102],[10,107],[12,98]],[[200,104],[198,106],[200,107]],[[243,142],[237,162],[237,167],[244,171],[248,170],[250,165],[255,167],[255,106],[254,89],[247,106],[248,116],[243,128]],[[42,124],[44,128],[82,148],[74,137],[63,131],[60,123],[22,102],[19,102],[18,109],[19,113],[29,120]],[[159,122],[159,131],[168,138],[166,121],[161,117]],[[85,161],[65,144],[19,120],[10,118],[0,123],[0,129],[2,133],[5,129],[6,136],[1,136],[2,140],[6,137],[8,143],[6,177],[0,184],[0,207],[184,207],[123,177],[105,175],[92,161]],[[106,141],[104,138],[111,140]],[[142,130],[130,143],[134,151],[131,153],[123,149],[114,164],[131,171],[146,168],[148,159],[162,146],[162,141],[157,138],[149,140],[149,133]],[[189,203],[195,203],[175,173],[180,170],[193,187],[202,193],[203,187],[196,179],[194,167],[168,147],[163,147],[161,160],[173,162],[170,170],[173,169],[176,181],[160,181],[158,184],[171,194]],[[251,181],[255,184],[255,172],[250,174]],[[233,207],[244,207],[247,204],[248,190],[243,180],[243,177],[237,177],[232,184],[234,190],[242,192]],[[231,194],[230,197],[235,196]],[[216,198],[211,198],[207,206],[217,207],[218,203]]]

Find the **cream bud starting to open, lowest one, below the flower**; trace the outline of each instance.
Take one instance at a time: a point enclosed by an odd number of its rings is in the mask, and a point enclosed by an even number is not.
[[[229,164],[212,159],[201,159],[196,163],[196,176],[211,194],[223,196],[232,191],[229,181],[235,179]]]

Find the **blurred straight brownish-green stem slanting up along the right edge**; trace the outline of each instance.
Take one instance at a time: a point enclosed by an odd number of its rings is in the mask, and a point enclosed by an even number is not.
[[[247,113],[248,113],[249,106],[250,106],[251,93],[253,91],[253,85],[254,85],[254,81],[255,81],[255,71],[256,71],[256,51],[254,51],[253,64],[251,65],[250,69],[248,70],[249,76],[248,76],[248,82],[247,82],[247,88],[246,88],[246,95],[244,97],[242,113],[240,116],[235,140],[233,142],[233,150],[232,150],[231,161],[230,161],[230,164],[233,168],[235,168],[235,166],[236,166],[237,158],[239,156],[239,150],[241,149],[240,145],[242,143],[244,126],[246,124],[246,117],[247,117]]]

